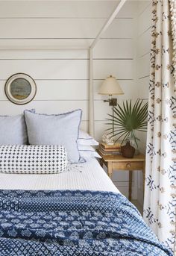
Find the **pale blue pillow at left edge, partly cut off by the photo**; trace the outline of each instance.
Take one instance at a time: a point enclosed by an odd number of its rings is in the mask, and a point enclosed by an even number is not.
[[[28,136],[23,114],[0,116],[0,144],[27,144]]]

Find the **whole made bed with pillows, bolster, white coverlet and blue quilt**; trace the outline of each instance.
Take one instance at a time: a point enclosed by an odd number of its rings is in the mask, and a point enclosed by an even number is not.
[[[172,255],[101,168],[80,123],[81,110],[0,116],[0,255]]]

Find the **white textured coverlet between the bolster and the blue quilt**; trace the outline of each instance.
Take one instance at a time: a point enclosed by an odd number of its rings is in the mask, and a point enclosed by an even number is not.
[[[59,174],[0,174],[3,190],[98,190],[120,193],[95,158]]]

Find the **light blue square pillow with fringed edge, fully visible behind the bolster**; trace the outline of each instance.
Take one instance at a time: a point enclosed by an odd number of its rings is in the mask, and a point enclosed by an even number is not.
[[[82,110],[47,115],[25,110],[28,141],[31,145],[62,145],[71,163],[81,160],[77,140]]]

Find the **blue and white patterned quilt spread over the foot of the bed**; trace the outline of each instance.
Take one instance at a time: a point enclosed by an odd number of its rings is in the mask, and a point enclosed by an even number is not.
[[[121,194],[0,190],[0,255],[172,255]]]

